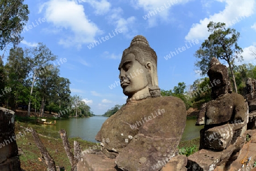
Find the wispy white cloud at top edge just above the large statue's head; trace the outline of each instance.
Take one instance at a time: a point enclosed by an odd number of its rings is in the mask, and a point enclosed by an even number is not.
[[[154,27],[157,25],[158,18],[164,20],[165,22],[171,19],[170,9],[172,6],[184,4],[189,1],[191,0],[133,0],[131,3],[135,9],[142,8],[145,12],[145,15],[149,14],[149,18],[147,19],[148,27]]]

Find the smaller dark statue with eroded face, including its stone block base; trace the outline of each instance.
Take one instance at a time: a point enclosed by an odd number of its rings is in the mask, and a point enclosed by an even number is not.
[[[200,131],[200,151],[188,157],[187,168],[193,171],[214,170],[221,164],[228,168],[230,156],[241,149],[248,122],[247,103],[231,92],[226,66],[213,57],[208,76],[219,84],[212,87],[213,100],[202,105],[197,118],[197,124],[205,127]]]

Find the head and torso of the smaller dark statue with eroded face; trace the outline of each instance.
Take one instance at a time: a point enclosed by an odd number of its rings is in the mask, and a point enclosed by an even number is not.
[[[211,94],[213,100],[201,107],[197,124],[205,124],[209,128],[214,124],[246,120],[247,106],[242,95],[232,93],[230,90],[228,68],[213,57],[208,76],[210,82],[217,80],[220,84],[213,85]]]

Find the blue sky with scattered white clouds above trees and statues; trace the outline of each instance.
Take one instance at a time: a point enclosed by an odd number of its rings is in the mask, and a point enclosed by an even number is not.
[[[193,54],[207,39],[207,24],[212,20],[228,23],[239,31],[243,62],[254,60],[250,48],[256,45],[256,0],[24,3],[28,4],[30,14],[20,46],[31,47],[42,42],[58,56],[56,62],[66,58],[60,65],[60,76],[69,78],[72,95],[81,95],[96,115],[126,102],[120,85],[115,82],[119,82],[122,52],[136,35],[145,36],[158,55],[159,87],[164,90],[172,89],[178,82],[189,86],[199,78]],[[171,52],[169,59],[167,55]],[[112,84],[116,87],[110,89]]]

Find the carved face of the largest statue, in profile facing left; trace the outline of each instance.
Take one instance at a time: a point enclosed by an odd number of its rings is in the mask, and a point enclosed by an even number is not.
[[[119,79],[123,94],[129,98],[148,94],[147,69],[141,65],[133,53],[127,54],[119,64]]]

